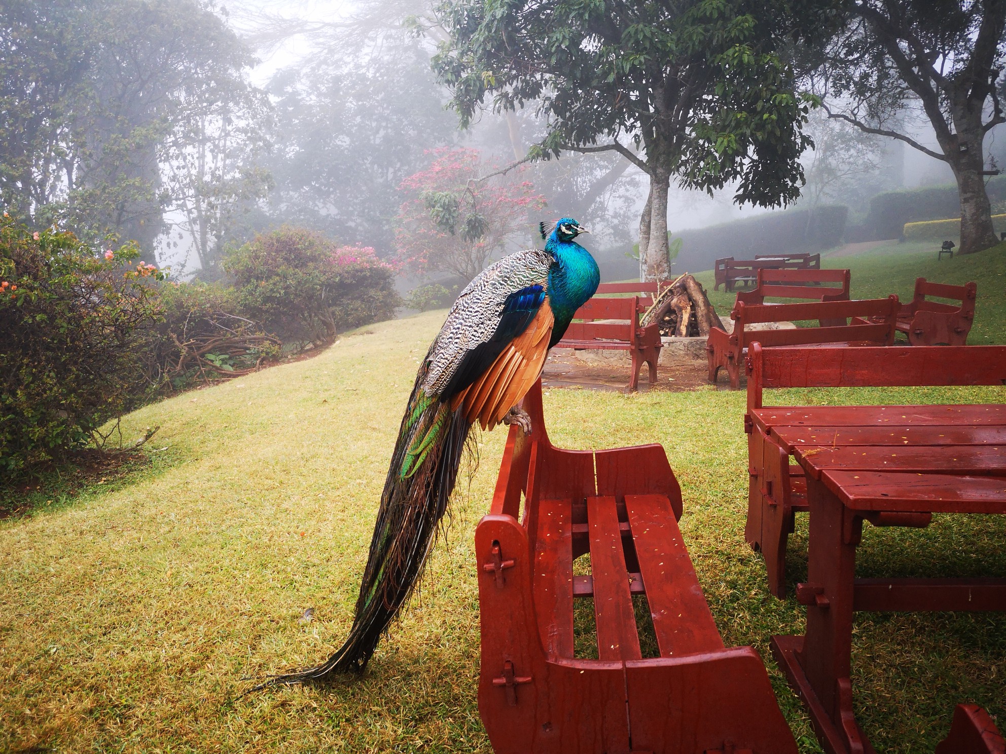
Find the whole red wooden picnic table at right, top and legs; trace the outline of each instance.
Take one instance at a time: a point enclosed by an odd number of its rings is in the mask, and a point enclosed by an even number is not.
[[[773,650],[832,754],[873,751],[852,711],[855,610],[1006,610],[1003,578],[855,578],[863,521],[929,525],[934,513],[1006,513],[1006,405],[765,407],[751,420],[807,476],[802,636]],[[1001,739],[999,739],[1001,741]]]

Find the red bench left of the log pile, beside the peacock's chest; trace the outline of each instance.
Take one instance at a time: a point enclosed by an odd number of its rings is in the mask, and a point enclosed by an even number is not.
[[[609,284],[632,286],[636,290],[640,284]],[[610,293],[622,293],[614,291]],[[555,348],[583,350],[628,351],[632,356],[632,376],[629,390],[639,386],[639,373],[643,364],[650,368],[650,384],[657,382],[657,363],[660,361],[660,329],[657,323],[640,327],[640,315],[652,305],[649,298],[638,296],[624,299],[605,299],[595,296],[576,310],[573,322],[566,329],[562,340]],[[577,322],[578,320],[578,322]],[[597,322],[616,320],[616,322]]]

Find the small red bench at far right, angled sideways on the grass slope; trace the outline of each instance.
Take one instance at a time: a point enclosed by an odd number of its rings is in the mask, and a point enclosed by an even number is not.
[[[911,303],[897,313],[898,332],[908,336],[912,346],[965,346],[975,320],[975,298],[978,286],[947,286],[915,279],[915,295]],[[929,301],[926,297],[951,299],[960,306]]]

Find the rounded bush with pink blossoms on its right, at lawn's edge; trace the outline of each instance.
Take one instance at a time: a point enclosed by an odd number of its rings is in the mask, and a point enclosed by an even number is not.
[[[223,267],[242,313],[284,339],[331,343],[340,330],[390,319],[401,306],[393,268],[372,248],[339,247],[301,228],[261,233]]]

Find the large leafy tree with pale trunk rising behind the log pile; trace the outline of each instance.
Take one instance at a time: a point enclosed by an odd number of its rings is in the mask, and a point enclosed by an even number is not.
[[[772,47],[785,18],[766,7],[445,0],[435,65],[463,125],[487,98],[503,112],[537,102],[549,134],[532,157],[614,150],[645,172],[640,272],[665,277],[672,176],[707,191],[737,181],[735,200],[762,206],[799,195],[810,100]]]

